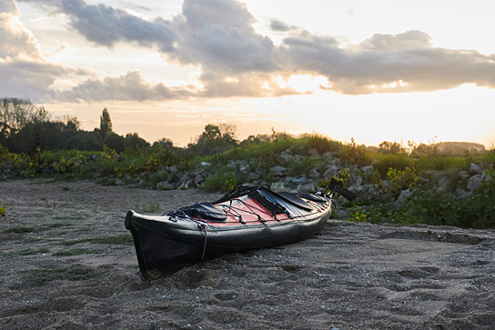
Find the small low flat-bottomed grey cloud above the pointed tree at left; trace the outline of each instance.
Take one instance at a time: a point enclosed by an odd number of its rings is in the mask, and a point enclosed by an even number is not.
[[[181,89],[171,89],[163,84],[146,84],[136,71],[126,75],[106,77],[102,81],[88,79],[69,91],[57,91],[56,99],[66,102],[99,102],[107,100],[147,101],[182,98],[191,92]]]

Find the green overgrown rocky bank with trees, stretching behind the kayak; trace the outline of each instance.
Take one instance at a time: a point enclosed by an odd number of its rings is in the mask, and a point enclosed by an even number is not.
[[[312,181],[321,187],[335,176],[359,190],[354,203],[342,205],[350,220],[495,228],[493,149],[450,155],[434,143],[369,148],[275,131],[238,141],[236,127],[225,124],[207,125],[187,147],[167,138],[150,145],[136,133],[116,135],[106,109],[100,127],[86,132],[74,117],[52,120],[18,99],[0,100],[0,129],[0,179],[96,179],[217,191],[279,181],[289,190],[311,187]],[[0,200],[0,217],[5,214],[8,205]]]

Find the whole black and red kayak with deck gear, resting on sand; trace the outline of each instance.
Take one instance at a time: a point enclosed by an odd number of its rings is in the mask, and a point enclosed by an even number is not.
[[[140,274],[153,280],[218,255],[304,240],[325,225],[335,208],[336,189],[331,188],[328,194],[293,195],[240,186],[216,202],[165,215],[129,210],[125,225],[134,239]],[[349,192],[341,183],[337,190]]]

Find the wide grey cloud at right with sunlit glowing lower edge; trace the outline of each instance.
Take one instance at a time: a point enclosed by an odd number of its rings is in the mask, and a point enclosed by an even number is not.
[[[286,38],[280,57],[292,70],[325,75],[329,89],[349,95],[495,87],[495,56],[434,48],[419,31],[374,35],[349,48],[305,32]]]

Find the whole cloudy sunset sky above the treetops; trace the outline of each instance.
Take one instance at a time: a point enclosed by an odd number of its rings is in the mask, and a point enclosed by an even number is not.
[[[149,142],[495,144],[491,0],[0,0],[0,97]]]

